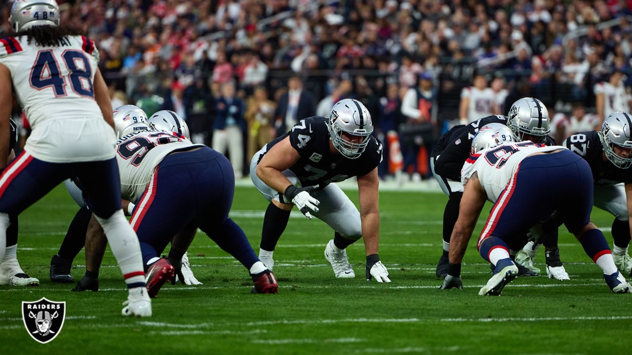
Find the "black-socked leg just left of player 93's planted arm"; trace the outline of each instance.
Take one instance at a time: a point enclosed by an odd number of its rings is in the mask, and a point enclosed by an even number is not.
[[[450,250],[450,236],[454,229],[454,224],[459,217],[459,205],[461,204],[461,197],[463,197],[463,184],[461,181],[454,181],[444,178],[434,171],[434,163],[438,157],[430,159],[430,169],[434,175],[437,183],[441,186],[441,190],[447,195],[446,208],[443,211],[443,251],[439,263],[437,263],[437,278],[443,279],[447,275],[447,266],[449,261],[447,259],[448,252]]]

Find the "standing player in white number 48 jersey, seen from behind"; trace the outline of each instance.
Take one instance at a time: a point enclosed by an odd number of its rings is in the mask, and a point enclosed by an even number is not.
[[[0,132],[8,132],[15,95],[32,134],[0,177],[0,259],[9,215],[18,215],[64,179],[81,179],[103,227],[129,296],[124,315],[151,316],[140,245],[121,209],[114,124],[99,51],[79,30],[60,27],[54,0],[15,1],[15,34],[0,41]],[[0,138],[7,151],[9,136]],[[0,167],[6,155],[0,154]]]

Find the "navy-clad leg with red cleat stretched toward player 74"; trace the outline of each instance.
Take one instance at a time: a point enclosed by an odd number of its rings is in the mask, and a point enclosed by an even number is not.
[[[200,174],[207,177],[207,181],[200,182],[204,193],[198,193],[198,203],[204,205],[206,201],[207,207],[195,219],[198,226],[248,270],[254,284],[251,292],[276,293],[279,286],[274,274],[257,258],[241,227],[228,217],[234,196],[233,167],[223,155],[205,165],[204,171],[215,173]]]

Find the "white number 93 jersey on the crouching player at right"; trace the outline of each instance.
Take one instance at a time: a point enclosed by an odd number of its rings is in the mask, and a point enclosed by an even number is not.
[[[520,143],[502,143],[481,150],[466,160],[461,170],[461,182],[465,185],[474,172],[483,186],[487,199],[496,202],[502,190],[518,171],[520,162],[533,153],[550,152],[551,150],[566,149],[559,145],[540,147],[530,141]]]

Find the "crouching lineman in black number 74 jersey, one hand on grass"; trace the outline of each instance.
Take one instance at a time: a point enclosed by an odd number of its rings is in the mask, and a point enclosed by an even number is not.
[[[371,135],[373,123],[367,108],[344,99],[329,119],[302,119],[283,136],[255,153],[250,177],[270,202],[265,211],[259,259],[272,270],[272,253],[288,224],[294,205],[307,217],[323,220],[334,229],[325,258],[336,277],[355,277],[346,247],[364,238],[367,280],[391,282],[377,254],[379,244],[379,179],[382,144]],[[360,212],[336,184],[358,179]]]

